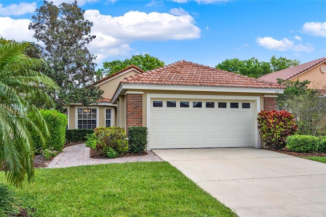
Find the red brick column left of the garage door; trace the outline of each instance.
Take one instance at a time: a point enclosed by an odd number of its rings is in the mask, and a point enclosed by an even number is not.
[[[126,94],[126,132],[130,126],[143,126],[143,95]]]

